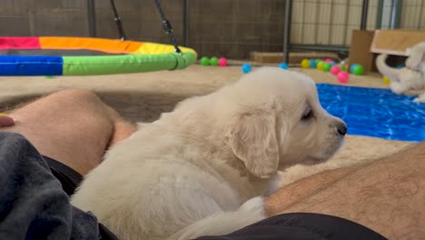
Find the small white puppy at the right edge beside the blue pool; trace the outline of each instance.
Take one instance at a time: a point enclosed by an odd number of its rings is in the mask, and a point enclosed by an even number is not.
[[[425,42],[407,51],[406,67],[392,68],[385,63],[387,55],[379,55],[376,66],[382,75],[390,78],[390,89],[398,95],[418,95],[413,101],[425,103]]]

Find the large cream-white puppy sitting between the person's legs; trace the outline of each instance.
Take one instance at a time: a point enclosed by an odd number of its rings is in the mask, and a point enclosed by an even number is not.
[[[321,163],[347,126],[320,105],[310,77],[263,67],[112,147],[72,203],[120,239],[225,235],[266,217],[278,171]]]

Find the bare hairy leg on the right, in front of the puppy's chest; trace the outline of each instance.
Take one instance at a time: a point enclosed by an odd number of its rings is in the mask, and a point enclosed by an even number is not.
[[[390,239],[425,238],[425,142],[369,165],[301,179],[266,200],[269,215],[310,212],[366,225]]]

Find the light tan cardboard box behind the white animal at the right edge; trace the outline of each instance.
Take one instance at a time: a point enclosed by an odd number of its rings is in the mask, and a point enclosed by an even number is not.
[[[371,43],[371,53],[406,56],[406,50],[420,42],[425,42],[425,31],[376,30]]]

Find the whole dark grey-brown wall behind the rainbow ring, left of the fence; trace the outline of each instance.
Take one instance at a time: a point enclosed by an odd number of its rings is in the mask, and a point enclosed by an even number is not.
[[[183,44],[183,0],[162,0]],[[282,51],[284,1],[191,0],[188,46],[199,55],[248,58]],[[88,36],[86,0],[0,0],[0,35]],[[129,39],[169,44],[154,0],[115,0]],[[98,37],[117,38],[109,0],[95,1]]]

